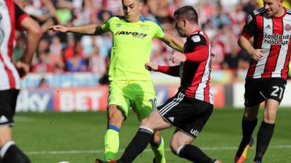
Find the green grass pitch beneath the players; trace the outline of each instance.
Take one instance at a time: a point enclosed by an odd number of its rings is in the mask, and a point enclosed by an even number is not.
[[[259,123],[261,124],[262,111]],[[241,140],[241,116],[243,109],[216,109],[202,133],[193,142],[212,158],[232,163],[236,147]],[[290,124],[291,109],[280,108],[278,111],[275,134],[266,152],[263,162],[291,162]],[[105,133],[105,112],[84,113],[17,113],[16,126],[13,127],[13,140],[25,151],[33,163],[93,163],[96,158],[103,158],[103,136]],[[128,120],[120,131],[120,152],[130,142],[138,128],[135,113],[130,112]],[[173,128],[164,130],[167,162],[188,162],[171,153],[169,142]],[[256,143],[256,136],[255,136]],[[251,147],[246,163],[251,162],[255,148]],[[154,154],[147,147],[135,162],[152,162]]]

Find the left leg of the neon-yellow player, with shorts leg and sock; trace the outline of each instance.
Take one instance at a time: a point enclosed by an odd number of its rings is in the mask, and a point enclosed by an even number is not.
[[[119,132],[123,120],[128,114],[130,101],[122,93],[122,81],[110,84],[108,96],[108,127],[104,137],[104,159],[116,159],[119,149]]]

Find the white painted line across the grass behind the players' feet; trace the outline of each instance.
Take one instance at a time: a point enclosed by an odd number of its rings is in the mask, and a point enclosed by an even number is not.
[[[291,148],[291,145],[273,145],[268,147],[269,149],[282,149]],[[201,147],[201,150],[236,150],[237,147]],[[171,151],[170,148],[166,148],[166,151]],[[123,152],[119,150],[118,152]],[[144,152],[151,152],[152,150],[144,150]],[[63,151],[30,151],[25,152],[26,154],[81,154],[81,153],[103,153],[104,150],[63,150]]]

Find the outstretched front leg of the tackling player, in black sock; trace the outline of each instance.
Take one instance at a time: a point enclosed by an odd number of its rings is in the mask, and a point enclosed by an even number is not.
[[[161,118],[158,111],[154,109],[148,118],[142,120],[137,134],[133,137],[130,144],[127,145],[125,152],[118,161],[124,163],[133,162],[137,155],[140,154],[152,140],[155,130],[162,130],[169,127],[171,127],[171,125],[166,123],[164,119]]]

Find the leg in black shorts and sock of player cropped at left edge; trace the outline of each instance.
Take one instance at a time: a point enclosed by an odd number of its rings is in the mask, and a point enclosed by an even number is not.
[[[18,90],[0,91],[0,159],[5,163],[30,162],[11,139],[11,125],[13,125],[18,92]]]

